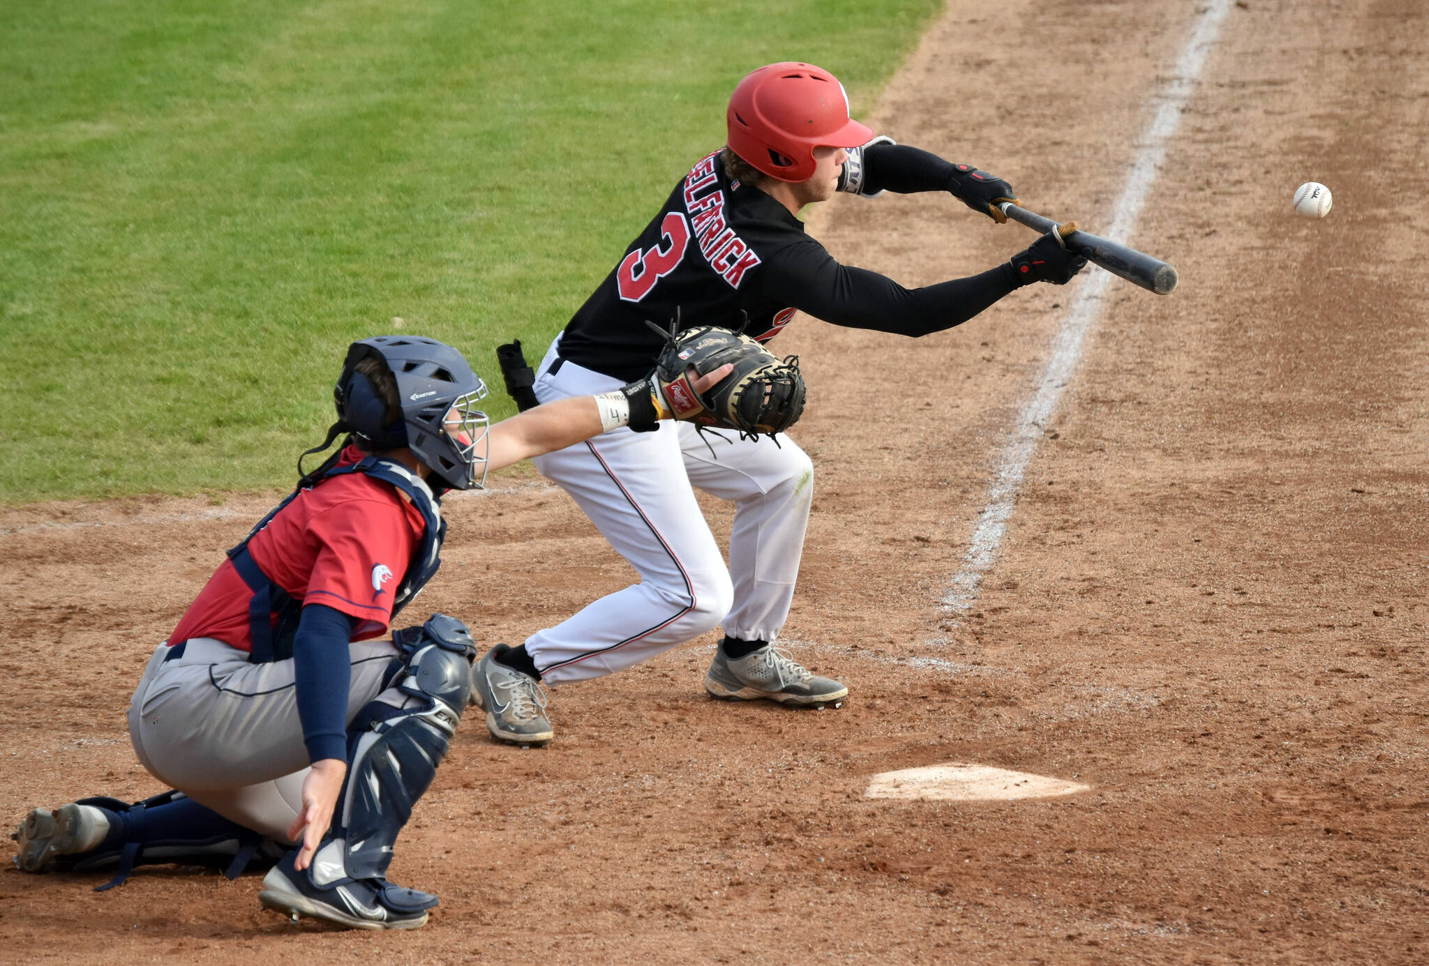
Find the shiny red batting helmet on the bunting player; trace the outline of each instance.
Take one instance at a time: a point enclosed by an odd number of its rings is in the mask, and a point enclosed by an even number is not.
[[[816,147],[857,147],[873,131],[849,119],[843,84],[823,67],[785,61],[739,81],[729,99],[729,147],[780,181],[813,177]]]

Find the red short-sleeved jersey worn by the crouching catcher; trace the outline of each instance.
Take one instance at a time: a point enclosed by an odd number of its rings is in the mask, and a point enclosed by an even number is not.
[[[363,456],[349,446],[339,466]],[[367,640],[386,633],[393,592],[407,572],[424,526],[422,513],[394,487],[366,473],[347,473],[299,493],[253,534],[249,553],[296,600],[356,617],[353,640]],[[213,637],[252,650],[252,597],[233,563],[224,560],[169,634],[169,643]]]

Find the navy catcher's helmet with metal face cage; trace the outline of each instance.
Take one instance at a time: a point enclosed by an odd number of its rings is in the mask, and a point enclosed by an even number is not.
[[[379,359],[396,379],[402,419],[384,424],[387,406],[382,394],[356,370],[366,357]],[[333,387],[339,426],[356,433],[369,449],[409,447],[423,466],[457,490],[482,489],[486,483],[489,420],[476,409],[484,397],[486,383],[462,353],[422,336],[354,342]]]

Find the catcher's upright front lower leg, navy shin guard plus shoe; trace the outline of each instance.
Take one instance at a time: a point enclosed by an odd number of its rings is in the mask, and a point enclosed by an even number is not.
[[[430,787],[472,692],[476,644],[466,624],[434,614],[393,636],[404,657],[387,700],[367,704],[349,737],[340,817],[299,872],[292,856],[263,880],[264,906],[359,929],[412,929],[436,896],[386,880],[397,833]]]

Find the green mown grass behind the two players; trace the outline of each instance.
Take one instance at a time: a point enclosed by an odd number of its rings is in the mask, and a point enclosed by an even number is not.
[[[499,386],[740,76],[810,60],[866,111],[939,6],[0,4],[0,502],[284,486],[394,317]]]

